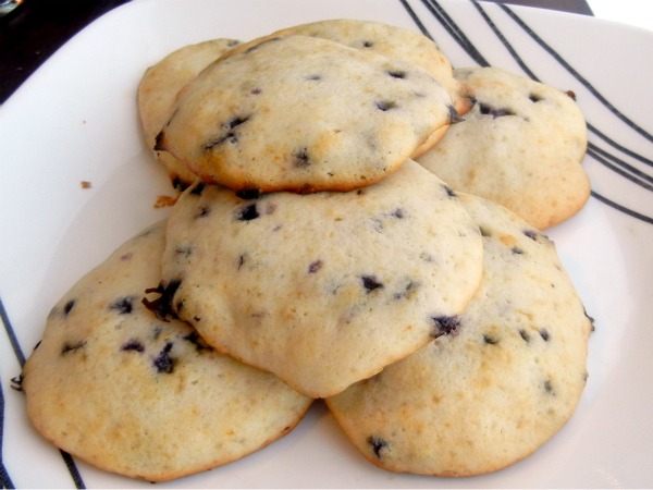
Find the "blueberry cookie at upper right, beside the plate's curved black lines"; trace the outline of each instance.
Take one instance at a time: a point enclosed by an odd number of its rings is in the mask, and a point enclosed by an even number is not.
[[[477,103],[418,159],[454,189],[546,229],[586,204],[587,126],[569,94],[496,68],[456,70]]]

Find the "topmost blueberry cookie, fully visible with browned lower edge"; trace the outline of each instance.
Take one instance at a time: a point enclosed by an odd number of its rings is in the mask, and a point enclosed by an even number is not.
[[[207,68],[157,149],[234,191],[350,191],[396,171],[451,121],[426,71],[335,41],[287,36]]]

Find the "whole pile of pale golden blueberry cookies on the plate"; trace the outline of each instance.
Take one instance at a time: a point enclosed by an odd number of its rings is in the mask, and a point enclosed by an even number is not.
[[[570,417],[591,322],[541,231],[589,195],[567,94],[337,20],[184,47],[138,107],[181,194],[50,313],[23,389],[53,444],[168,480],[323,399],[372,463],[472,476]]]

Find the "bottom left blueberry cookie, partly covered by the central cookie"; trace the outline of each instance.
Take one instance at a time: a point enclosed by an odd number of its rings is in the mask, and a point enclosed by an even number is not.
[[[249,454],[292,430],[311,403],[141,304],[160,280],[163,247],[159,223],[82,278],[51,310],[22,384],[47,440],[149,481]]]

